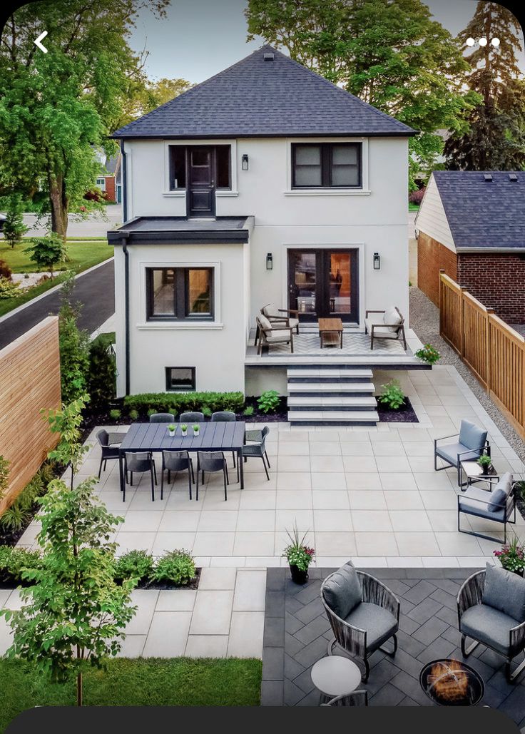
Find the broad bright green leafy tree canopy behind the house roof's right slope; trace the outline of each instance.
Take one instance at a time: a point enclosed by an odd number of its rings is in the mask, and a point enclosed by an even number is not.
[[[440,128],[466,130],[479,98],[462,90],[460,43],[421,0],[249,0],[249,38],[293,59],[421,131],[410,140],[410,179],[443,150]]]

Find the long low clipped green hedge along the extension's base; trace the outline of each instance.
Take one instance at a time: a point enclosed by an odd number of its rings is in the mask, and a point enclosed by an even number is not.
[[[152,413],[186,413],[187,411],[209,408],[211,413],[217,410],[231,410],[240,413],[245,404],[242,393],[140,393],[127,395],[124,398],[126,410],[137,410],[140,415]]]

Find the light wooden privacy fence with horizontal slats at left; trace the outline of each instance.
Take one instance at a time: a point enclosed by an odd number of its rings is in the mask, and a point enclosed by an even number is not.
[[[57,445],[40,410],[59,407],[58,317],[48,316],[0,349],[0,455],[10,462],[0,515]]]

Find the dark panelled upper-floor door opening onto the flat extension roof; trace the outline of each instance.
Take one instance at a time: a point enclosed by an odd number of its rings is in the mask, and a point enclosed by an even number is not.
[[[215,155],[214,147],[195,145],[187,148],[188,217],[215,216]]]

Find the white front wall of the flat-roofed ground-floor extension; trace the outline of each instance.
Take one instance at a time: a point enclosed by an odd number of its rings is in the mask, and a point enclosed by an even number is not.
[[[131,245],[129,252],[130,392],[162,393],[166,367],[195,367],[197,390],[244,390],[246,321],[242,244]],[[146,321],[147,267],[214,268],[214,321]],[[115,247],[117,394],[126,392],[124,255]]]

